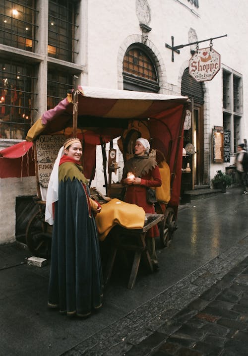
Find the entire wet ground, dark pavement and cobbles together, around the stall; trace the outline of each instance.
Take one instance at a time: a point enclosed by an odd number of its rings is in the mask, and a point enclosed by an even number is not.
[[[239,188],[180,207],[159,271],[141,268],[128,290],[116,266],[102,310],[85,320],[47,308],[49,265],[0,246],[0,355],[248,355],[247,221]]]

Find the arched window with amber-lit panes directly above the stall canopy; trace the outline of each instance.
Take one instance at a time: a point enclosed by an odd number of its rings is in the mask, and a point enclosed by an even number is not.
[[[125,90],[159,91],[157,70],[147,48],[128,47],[123,60],[123,80]]]

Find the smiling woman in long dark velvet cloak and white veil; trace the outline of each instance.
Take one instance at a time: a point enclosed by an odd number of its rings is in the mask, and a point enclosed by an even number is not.
[[[94,218],[101,206],[90,198],[81,156],[80,140],[67,139],[49,181],[45,220],[54,224],[48,306],[68,316],[86,317],[102,305],[102,267]]]

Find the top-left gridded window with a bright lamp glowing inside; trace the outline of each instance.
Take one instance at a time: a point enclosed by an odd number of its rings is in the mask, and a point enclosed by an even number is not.
[[[35,51],[35,34],[38,11],[34,0],[0,0],[0,43]]]

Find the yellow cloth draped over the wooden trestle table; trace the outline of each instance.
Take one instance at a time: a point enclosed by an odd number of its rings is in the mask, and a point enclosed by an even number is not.
[[[115,225],[126,229],[142,229],[145,223],[143,208],[128,204],[119,199],[112,199],[102,205],[102,210],[96,216],[99,239],[103,241]]]

